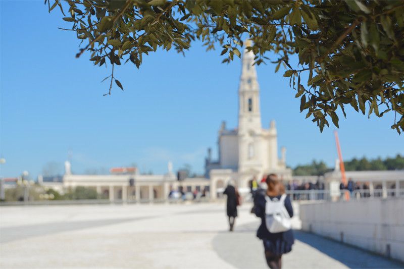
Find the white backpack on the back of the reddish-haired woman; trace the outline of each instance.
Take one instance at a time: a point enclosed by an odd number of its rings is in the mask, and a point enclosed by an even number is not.
[[[282,194],[280,200],[274,198],[271,200],[267,195],[265,199],[265,224],[270,233],[286,232],[291,229],[289,213],[285,207],[286,194]]]

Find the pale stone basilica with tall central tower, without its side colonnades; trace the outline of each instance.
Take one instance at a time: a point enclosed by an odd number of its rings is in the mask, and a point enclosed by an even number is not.
[[[238,128],[228,130],[225,122],[222,123],[217,161],[212,160],[211,149],[208,149],[205,176],[211,179],[212,195],[230,179],[239,188],[246,188],[254,176],[261,179],[270,173],[276,173],[284,180],[291,179],[291,170],[285,164],[284,147],[281,149],[282,157],[278,157],[275,122],[271,122],[269,129],[263,129],[261,125],[260,86],[253,63],[254,53],[244,49],[238,89]]]

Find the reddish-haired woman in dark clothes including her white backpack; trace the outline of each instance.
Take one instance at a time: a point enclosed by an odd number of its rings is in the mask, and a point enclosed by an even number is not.
[[[285,187],[275,174],[270,174],[266,183],[266,192],[257,193],[254,199],[255,214],[261,218],[257,237],[264,243],[268,266],[281,268],[282,254],[290,252],[294,243],[290,222],[293,208]]]

